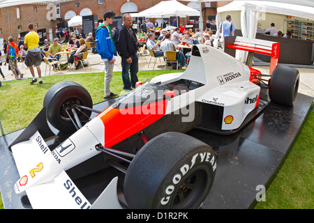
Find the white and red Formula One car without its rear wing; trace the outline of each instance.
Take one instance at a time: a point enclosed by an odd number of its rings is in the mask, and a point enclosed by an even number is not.
[[[199,208],[214,182],[216,154],[186,132],[232,134],[271,101],[293,105],[299,71],[277,66],[266,84],[258,70],[219,49],[194,45],[191,54],[185,72],[138,82],[103,112],[80,84],[52,86],[42,111],[9,146],[20,174],[15,192],[32,208]],[[82,168],[96,156],[103,164]],[[109,167],[124,175],[123,196],[113,177],[91,201],[69,174]]]

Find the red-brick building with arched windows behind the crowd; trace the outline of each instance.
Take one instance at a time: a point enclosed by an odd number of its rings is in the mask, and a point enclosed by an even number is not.
[[[106,10],[113,10],[117,16],[124,13],[137,13],[156,5],[162,0],[47,0],[28,1],[33,3],[23,3],[21,5],[5,6],[0,4],[0,44],[2,40],[7,40],[8,36],[17,38],[21,33],[27,32],[29,22],[35,25],[35,31],[46,30],[48,40],[55,37],[57,24],[68,22],[75,15],[97,15],[98,20],[102,20]],[[26,2],[26,1],[25,1]],[[48,6],[52,2],[54,8]],[[198,10],[198,3],[181,1],[191,8]],[[216,8],[223,6],[230,1],[202,3],[202,17],[204,23],[209,16],[216,16]],[[181,18],[180,23],[189,21]],[[154,22],[154,19],[153,19]],[[205,26],[204,26],[205,27]]]

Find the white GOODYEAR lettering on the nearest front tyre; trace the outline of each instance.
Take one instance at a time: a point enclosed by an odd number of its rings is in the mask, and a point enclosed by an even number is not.
[[[196,153],[195,155],[193,155],[189,164],[184,164],[180,168],[180,171],[177,174],[174,174],[172,178],[172,183],[170,183],[170,185],[167,185],[164,191],[165,195],[160,200],[160,203],[162,205],[166,205],[170,201],[171,196],[173,195],[173,192],[175,190],[175,186],[180,183],[181,179],[188,173],[188,171],[193,169],[196,162],[200,162],[200,163],[207,162],[211,164],[211,168],[213,169],[213,172],[216,170],[217,163],[216,163],[215,155],[211,155],[211,153],[209,152]]]

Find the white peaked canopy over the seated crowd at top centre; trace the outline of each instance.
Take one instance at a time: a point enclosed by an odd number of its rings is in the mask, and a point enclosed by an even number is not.
[[[169,17],[169,16],[200,16],[199,11],[190,8],[178,1],[160,1],[156,6],[137,14],[138,17]]]

